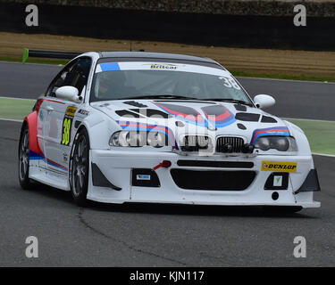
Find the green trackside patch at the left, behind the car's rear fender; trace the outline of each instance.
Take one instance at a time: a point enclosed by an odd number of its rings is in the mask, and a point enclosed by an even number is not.
[[[23,119],[32,110],[36,100],[0,98],[0,118]]]

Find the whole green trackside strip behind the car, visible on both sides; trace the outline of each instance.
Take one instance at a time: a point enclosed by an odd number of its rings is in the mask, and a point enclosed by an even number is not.
[[[0,118],[23,119],[31,112],[35,102],[0,98]],[[288,120],[303,129],[312,152],[335,155],[335,121]]]

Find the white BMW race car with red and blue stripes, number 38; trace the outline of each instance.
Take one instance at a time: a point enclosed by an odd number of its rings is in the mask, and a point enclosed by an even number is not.
[[[24,119],[19,179],[78,205],[153,202],[316,208],[303,131],[264,112],[216,61],[172,53],[83,53]]]

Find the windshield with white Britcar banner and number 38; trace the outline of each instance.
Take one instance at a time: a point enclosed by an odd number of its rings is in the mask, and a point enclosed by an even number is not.
[[[224,69],[162,62],[104,62],[97,65],[91,102],[137,98],[252,104],[239,83]]]

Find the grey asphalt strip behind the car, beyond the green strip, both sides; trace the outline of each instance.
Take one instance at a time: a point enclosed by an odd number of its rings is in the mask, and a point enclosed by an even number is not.
[[[61,69],[59,66],[0,62],[0,96],[35,99]],[[335,84],[238,77],[254,97],[270,94],[274,107],[266,110],[282,118],[335,120]]]

